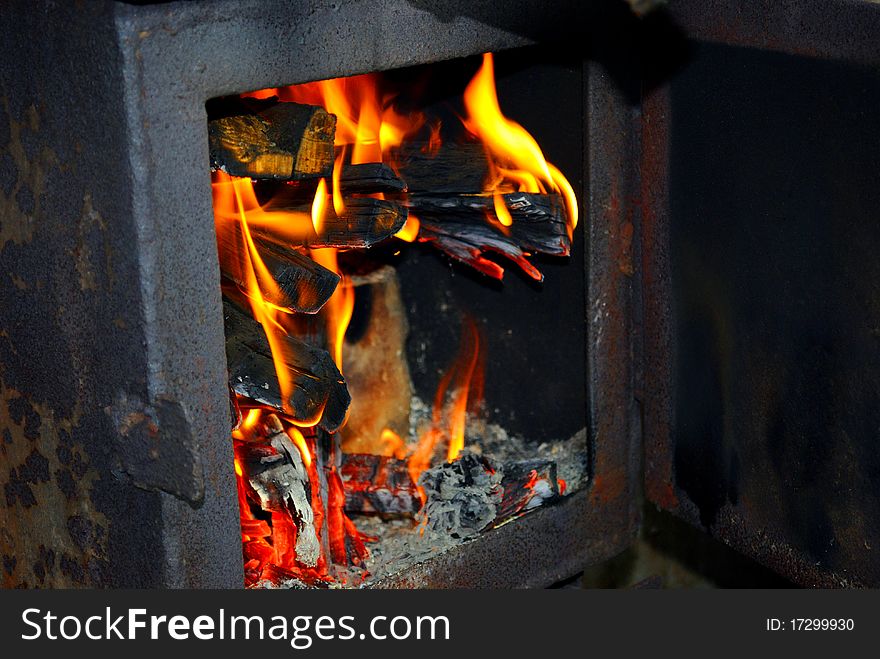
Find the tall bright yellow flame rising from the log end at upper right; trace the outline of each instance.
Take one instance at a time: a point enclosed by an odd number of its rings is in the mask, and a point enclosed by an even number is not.
[[[555,166],[547,162],[534,137],[501,112],[495,90],[495,67],[492,53],[483,55],[483,65],[464,92],[467,117],[464,125],[479,138],[489,159],[490,175],[486,192],[556,192],[562,195],[570,223],[577,226],[578,207],[574,189]],[[502,210],[503,209],[503,210]],[[495,194],[498,221],[510,226],[510,211]]]

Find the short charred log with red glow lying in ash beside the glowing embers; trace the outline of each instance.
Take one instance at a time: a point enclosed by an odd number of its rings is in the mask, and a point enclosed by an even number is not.
[[[340,475],[347,512],[414,515],[421,508],[418,488],[404,460],[344,453]]]

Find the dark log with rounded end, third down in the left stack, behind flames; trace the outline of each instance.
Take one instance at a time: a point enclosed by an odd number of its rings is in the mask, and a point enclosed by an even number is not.
[[[287,187],[287,186],[285,186]],[[313,248],[367,248],[393,236],[403,228],[407,209],[399,203],[373,197],[348,197],[344,200],[345,212],[338,216],[332,204],[328,204],[321,231],[298,244]],[[284,194],[276,195],[266,210],[311,213],[311,200],[291,199]],[[252,227],[255,235],[284,244],[289,237],[273,234],[269,227]]]

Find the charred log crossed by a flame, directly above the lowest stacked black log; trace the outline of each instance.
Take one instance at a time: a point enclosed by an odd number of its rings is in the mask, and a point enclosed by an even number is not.
[[[224,231],[218,231],[217,240],[220,242],[220,270],[223,277],[241,291],[246,291],[244,260],[240,258],[246,248],[240,226],[234,224]],[[254,239],[254,245],[277,284],[277,288],[261,286],[266,301],[293,312],[313,314],[326,304],[336,290],[339,275],[296,249],[259,237]]]

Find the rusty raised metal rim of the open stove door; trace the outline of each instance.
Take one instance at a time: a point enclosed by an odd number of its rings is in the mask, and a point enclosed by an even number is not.
[[[880,4],[872,0],[670,0],[667,16],[689,39],[811,58],[880,64]],[[644,443],[647,497],[696,526],[699,512],[675,485],[671,392],[673,354],[669,237],[668,85],[646,93],[642,114],[642,287],[644,300]],[[796,582],[825,587],[863,584],[858,574],[832,572],[795,547],[728,510],[707,529]]]

